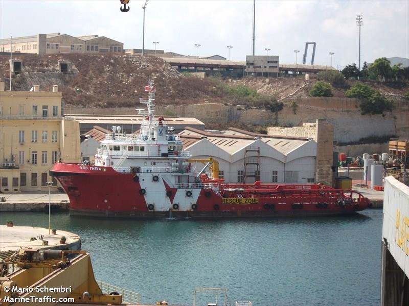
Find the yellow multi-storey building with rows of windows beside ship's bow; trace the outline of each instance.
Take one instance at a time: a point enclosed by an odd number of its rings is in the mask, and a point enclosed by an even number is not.
[[[62,94],[5,91],[0,82],[0,191],[48,191],[49,170],[60,159],[80,162],[79,122],[63,115]]]

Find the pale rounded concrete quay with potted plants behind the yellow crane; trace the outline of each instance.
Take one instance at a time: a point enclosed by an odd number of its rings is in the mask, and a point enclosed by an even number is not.
[[[64,244],[60,244],[62,236],[66,238]],[[44,245],[45,241],[48,245]],[[58,229],[56,235],[52,233],[49,235],[48,228],[0,225],[0,252],[17,251],[20,248],[80,250],[81,238],[76,234]]]

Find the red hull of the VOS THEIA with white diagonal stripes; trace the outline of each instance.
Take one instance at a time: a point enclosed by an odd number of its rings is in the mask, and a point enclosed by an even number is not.
[[[118,173],[111,167],[64,163],[55,164],[50,175],[56,177],[69,196],[71,214],[81,216],[308,217],[352,214],[370,206],[368,198],[359,193],[322,185],[261,185],[257,182],[254,185],[221,184],[218,189],[206,184],[196,189],[171,188],[160,173],[152,182],[142,175],[136,182],[133,173]]]

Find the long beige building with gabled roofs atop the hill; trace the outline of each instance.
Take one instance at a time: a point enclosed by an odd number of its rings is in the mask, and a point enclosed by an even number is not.
[[[0,39],[0,52],[54,54],[54,53],[123,53],[124,44],[105,36],[74,37],[50,33]]]

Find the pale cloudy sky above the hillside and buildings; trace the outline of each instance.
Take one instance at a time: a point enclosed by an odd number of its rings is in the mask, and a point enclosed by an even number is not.
[[[0,38],[38,33],[97,34],[142,48],[145,0],[0,0]],[[316,42],[316,65],[358,64],[362,14],[361,66],[379,57],[409,58],[409,1],[256,0],[255,54],[280,56],[280,63],[302,62],[306,42]],[[145,9],[145,48],[196,56],[218,54],[245,61],[252,53],[252,0],[149,0]],[[309,47],[307,64],[311,61]]]

